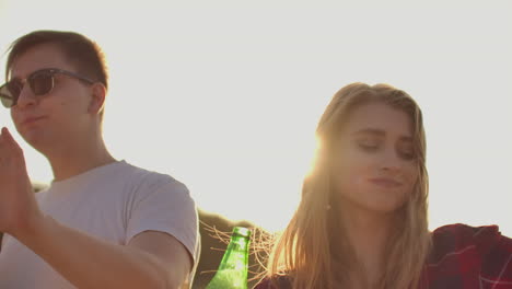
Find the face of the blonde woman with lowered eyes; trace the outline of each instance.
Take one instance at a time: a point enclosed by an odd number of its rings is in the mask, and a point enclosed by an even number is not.
[[[418,177],[405,112],[383,103],[356,107],[336,143],[333,180],[342,207],[385,213],[404,205]]]

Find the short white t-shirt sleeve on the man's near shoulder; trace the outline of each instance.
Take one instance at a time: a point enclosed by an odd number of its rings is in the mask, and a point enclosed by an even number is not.
[[[142,185],[127,226],[126,244],[144,231],[165,232],[176,238],[198,262],[198,215],[187,187],[173,180]]]

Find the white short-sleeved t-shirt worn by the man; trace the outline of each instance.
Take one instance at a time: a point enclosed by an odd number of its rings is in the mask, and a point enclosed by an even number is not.
[[[197,208],[186,186],[168,175],[119,161],[53,182],[36,198],[40,210],[60,223],[115,244],[126,245],[148,230],[168,233],[194,256],[195,273],[200,246]],[[5,234],[0,252],[0,288],[75,287]]]

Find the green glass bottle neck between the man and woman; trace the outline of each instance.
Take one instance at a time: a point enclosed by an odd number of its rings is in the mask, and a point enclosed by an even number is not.
[[[206,289],[247,289],[251,231],[235,227],[219,269]]]

